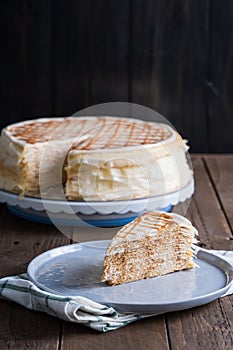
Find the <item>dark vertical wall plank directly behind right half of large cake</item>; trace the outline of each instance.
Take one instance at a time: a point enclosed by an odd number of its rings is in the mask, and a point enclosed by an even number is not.
[[[206,150],[208,0],[133,2],[132,102],[164,115]]]

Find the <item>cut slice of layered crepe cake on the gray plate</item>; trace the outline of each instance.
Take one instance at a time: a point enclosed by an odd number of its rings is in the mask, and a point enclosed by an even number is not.
[[[181,215],[148,212],[121,228],[110,242],[102,282],[117,285],[194,267],[197,230]]]

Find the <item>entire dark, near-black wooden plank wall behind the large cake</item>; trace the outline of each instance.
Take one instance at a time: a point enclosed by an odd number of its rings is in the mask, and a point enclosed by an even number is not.
[[[233,0],[0,0],[0,40],[0,129],[133,102],[233,152]]]

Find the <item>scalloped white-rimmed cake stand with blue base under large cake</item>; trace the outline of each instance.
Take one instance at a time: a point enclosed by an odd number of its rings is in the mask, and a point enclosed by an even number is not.
[[[194,192],[193,179],[178,191],[161,196],[121,200],[76,202],[50,200],[0,190],[0,202],[9,210],[26,220],[64,226],[85,224],[99,227],[122,226],[150,210],[171,211],[172,207],[190,198]]]

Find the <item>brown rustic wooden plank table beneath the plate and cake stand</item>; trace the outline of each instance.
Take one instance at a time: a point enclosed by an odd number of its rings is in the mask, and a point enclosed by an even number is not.
[[[194,155],[196,191],[187,217],[201,244],[233,250],[233,155]],[[26,271],[41,252],[70,244],[56,228],[24,221],[0,207],[0,274]],[[232,349],[233,296],[109,333],[0,301],[0,349]]]

